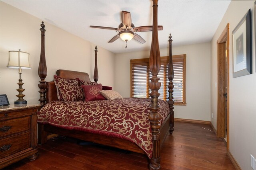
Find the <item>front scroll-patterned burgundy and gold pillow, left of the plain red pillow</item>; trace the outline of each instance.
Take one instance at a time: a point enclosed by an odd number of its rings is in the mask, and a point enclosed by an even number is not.
[[[84,99],[84,92],[81,86],[63,85],[58,88],[62,94],[62,98],[64,99],[65,103],[70,103]]]

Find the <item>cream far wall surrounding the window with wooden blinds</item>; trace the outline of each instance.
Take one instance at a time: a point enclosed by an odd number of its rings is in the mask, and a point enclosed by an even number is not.
[[[174,117],[210,121],[210,42],[173,47],[172,53],[186,54],[187,105],[174,106]],[[130,97],[130,59],[148,58],[149,54],[149,50],[116,54],[115,87],[123,97]],[[160,49],[160,55],[168,56],[169,48]]]

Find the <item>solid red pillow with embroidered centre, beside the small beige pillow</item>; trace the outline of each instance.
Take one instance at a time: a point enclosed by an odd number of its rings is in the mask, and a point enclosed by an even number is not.
[[[100,94],[100,90],[102,90],[101,84],[95,84],[93,86],[82,85],[81,87],[84,89],[84,101],[105,100],[105,98]]]

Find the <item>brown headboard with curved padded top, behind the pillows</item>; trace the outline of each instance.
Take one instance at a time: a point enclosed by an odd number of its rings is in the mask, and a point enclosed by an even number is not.
[[[86,82],[91,82],[89,74],[86,72],[70,71],[70,70],[57,70],[57,76],[67,79],[79,78]],[[46,103],[58,100],[57,88],[54,81],[46,82]]]

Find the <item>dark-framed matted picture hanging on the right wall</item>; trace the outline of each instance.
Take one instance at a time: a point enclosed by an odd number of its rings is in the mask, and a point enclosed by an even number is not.
[[[233,78],[252,74],[251,9],[232,31]]]

